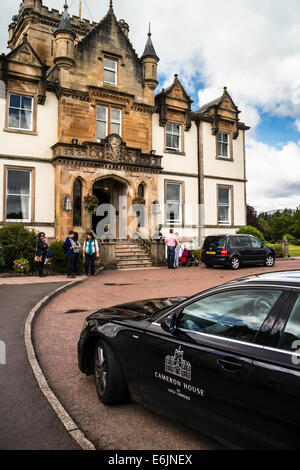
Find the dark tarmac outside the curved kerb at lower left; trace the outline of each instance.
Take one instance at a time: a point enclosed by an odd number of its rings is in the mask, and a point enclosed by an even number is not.
[[[0,450],[79,450],[37,386],[27,360],[24,324],[34,305],[65,283],[0,285]]]

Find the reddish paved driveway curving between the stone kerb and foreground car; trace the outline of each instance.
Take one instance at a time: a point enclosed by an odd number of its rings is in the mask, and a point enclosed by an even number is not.
[[[300,260],[278,262],[273,270],[285,269],[300,269]],[[105,271],[45,307],[34,329],[41,366],[50,386],[96,448],[192,450],[221,446],[134,403],[102,405],[93,377],[81,374],[77,367],[76,346],[87,314],[137,299],[192,295],[237,277],[266,271],[271,270],[256,267],[234,272],[201,266],[176,271]]]

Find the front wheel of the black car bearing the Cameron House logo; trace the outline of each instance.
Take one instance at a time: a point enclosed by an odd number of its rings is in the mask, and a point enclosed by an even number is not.
[[[129,399],[129,392],[119,359],[105,341],[98,341],[94,360],[95,385],[105,405],[117,405]]]

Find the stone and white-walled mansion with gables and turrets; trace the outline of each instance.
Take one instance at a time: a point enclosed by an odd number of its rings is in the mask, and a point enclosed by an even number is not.
[[[139,57],[112,1],[90,23],[70,17],[67,4],[61,14],[23,0],[8,46],[0,56],[0,225],[24,222],[52,239],[72,228],[84,236],[101,219],[84,207],[92,194],[115,207],[116,238],[120,201],[130,208],[137,196],[150,233],[174,227],[194,245],[246,224],[249,128],[227,89],[196,112],[177,75],[155,94],[151,33]]]

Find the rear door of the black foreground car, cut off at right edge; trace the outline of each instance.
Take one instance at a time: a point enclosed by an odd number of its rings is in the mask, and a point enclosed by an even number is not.
[[[291,293],[270,338],[254,360],[249,390],[256,413],[277,449],[300,449],[300,295]]]

